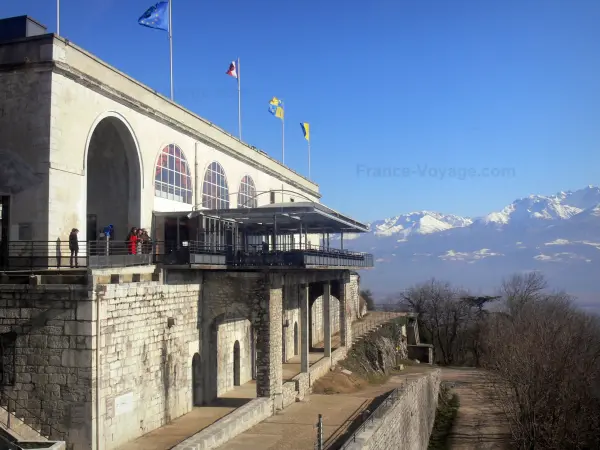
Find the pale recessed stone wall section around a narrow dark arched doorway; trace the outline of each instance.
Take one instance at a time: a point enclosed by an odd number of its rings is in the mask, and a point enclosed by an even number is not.
[[[217,331],[217,395],[230,391],[234,386],[252,379],[251,366],[251,324],[249,320],[238,319],[218,325]],[[239,353],[234,351],[239,346]],[[239,379],[234,374],[238,370],[235,358],[239,357]],[[235,383],[238,384],[235,384]]]

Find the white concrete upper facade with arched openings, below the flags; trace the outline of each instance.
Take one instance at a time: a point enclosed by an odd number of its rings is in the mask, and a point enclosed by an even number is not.
[[[276,192],[276,202],[319,200],[315,183],[62,38],[3,44],[0,64],[11,63],[14,71],[0,72],[0,98],[11,111],[0,118],[0,150],[18,155],[20,170],[37,177],[22,189],[0,186],[12,195],[11,240],[19,240],[23,222],[32,224],[34,240],[66,239],[71,228],[85,239],[94,196],[103,204],[94,211],[99,226],[111,215],[122,218],[116,239],[132,226],[150,229],[153,211],[201,208],[214,161],[224,169],[232,208],[246,175],[257,192]],[[155,196],[156,164],[168,145],[181,149],[189,165],[191,204]],[[256,199],[270,203],[269,193]]]

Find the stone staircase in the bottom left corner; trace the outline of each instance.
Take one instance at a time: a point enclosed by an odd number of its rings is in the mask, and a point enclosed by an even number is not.
[[[0,392],[0,450],[64,450],[64,441],[50,441],[42,436],[41,430],[35,430],[27,425],[23,418],[15,416],[15,409],[33,413],[22,407],[12,396]],[[36,417],[36,416],[34,416]],[[41,418],[38,418],[40,422]],[[51,427],[52,428],[52,427]],[[58,430],[53,430],[62,435]]]

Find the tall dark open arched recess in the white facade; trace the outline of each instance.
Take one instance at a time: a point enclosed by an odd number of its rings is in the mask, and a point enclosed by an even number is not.
[[[115,240],[141,226],[142,163],[133,130],[118,114],[98,118],[88,138],[86,171],[86,239],[114,226]]]

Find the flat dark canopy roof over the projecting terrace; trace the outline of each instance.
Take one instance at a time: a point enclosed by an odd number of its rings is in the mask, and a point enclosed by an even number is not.
[[[240,228],[261,234],[298,233],[365,233],[367,225],[320,203],[273,203],[257,208],[232,208],[193,211],[189,217],[206,215],[235,220]]]

